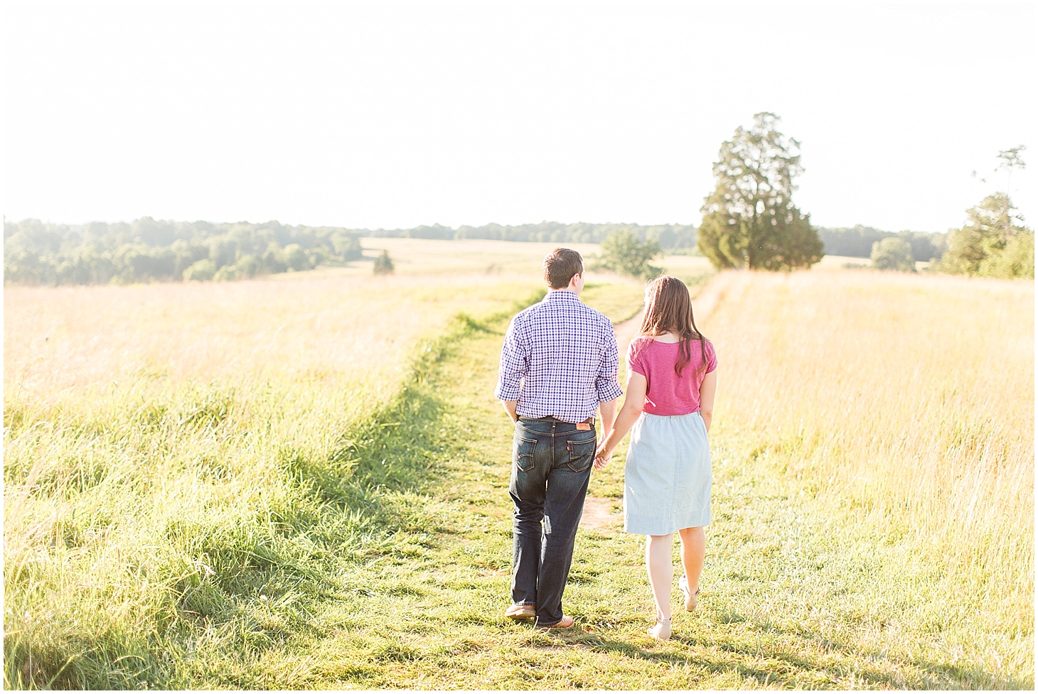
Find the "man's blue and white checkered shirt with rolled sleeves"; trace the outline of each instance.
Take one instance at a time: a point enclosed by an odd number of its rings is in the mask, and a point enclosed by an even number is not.
[[[572,292],[549,292],[512,318],[494,395],[518,400],[520,417],[581,422],[623,393],[617,361],[609,318]]]

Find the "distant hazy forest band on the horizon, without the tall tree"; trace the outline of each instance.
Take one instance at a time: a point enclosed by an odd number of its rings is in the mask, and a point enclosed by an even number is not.
[[[290,226],[276,221],[173,222],[142,217],[134,222],[45,224],[4,221],[4,282],[58,285],[151,281],[231,280],[274,273],[344,266],[359,260],[363,237],[491,239],[497,241],[597,244],[620,229],[664,251],[695,252],[695,227],[681,224],[561,224],[518,226],[418,226],[411,229],[348,229]],[[868,258],[872,244],[906,239],[917,260],[939,257],[945,234],[871,227],[819,228],[830,255]]]

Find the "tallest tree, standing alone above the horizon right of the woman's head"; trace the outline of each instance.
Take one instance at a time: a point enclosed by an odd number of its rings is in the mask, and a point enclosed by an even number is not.
[[[800,143],[775,126],[778,116],[758,113],[748,131],[720,146],[714,192],[702,207],[699,249],[718,270],[794,270],[822,258],[822,242],[810,215],[793,204],[793,179],[803,172]]]

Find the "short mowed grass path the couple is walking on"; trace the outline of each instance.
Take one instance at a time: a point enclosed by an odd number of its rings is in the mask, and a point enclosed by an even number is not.
[[[357,601],[350,629],[323,642],[340,659],[326,675],[359,668],[357,686],[443,689],[1032,686],[1021,656],[1033,635],[976,601],[946,600],[939,552],[908,537],[877,540],[876,525],[817,498],[815,482],[747,450],[737,431],[716,436],[705,595],[695,613],[677,613],[674,640],[645,635],[641,538],[616,523],[577,540],[565,600],[574,630],[543,634],[503,619],[512,427],[492,397],[503,327],[472,334],[439,365],[448,439],[426,517],[442,525],[414,556],[376,562],[372,600]],[[619,460],[596,473],[590,494],[619,502]],[[405,594],[380,590],[383,577]],[[371,619],[383,626],[364,630]]]

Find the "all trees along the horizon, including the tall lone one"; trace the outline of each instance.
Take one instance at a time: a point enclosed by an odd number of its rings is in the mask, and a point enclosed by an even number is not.
[[[579,222],[457,228],[434,224],[410,229],[289,226],[276,221],[170,222],[142,217],[132,223],[54,225],[4,221],[4,281],[90,284],[152,280],[222,280],[343,265],[362,257],[360,237],[488,239],[515,242],[602,244],[601,267],[638,277],[658,272],[650,261],[664,251],[694,249],[717,269],[796,270],[825,253],[870,257],[873,267],[914,272],[930,261],[935,272],[1034,277],[1034,231],[1008,193],[987,196],[947,237],[872,227],[818,228],[792,200],[803,172],[800,143],[777,130],[778,117],[758,113],[721,143],[713,165],[716,186],[701,209],[703,223],[591,224]],[[1023,168],[1022,145],[999,152],[999,170]],[[1008,182],[1007,182],[1008,190]],[[388,256],[375,268],[391,272]]]

